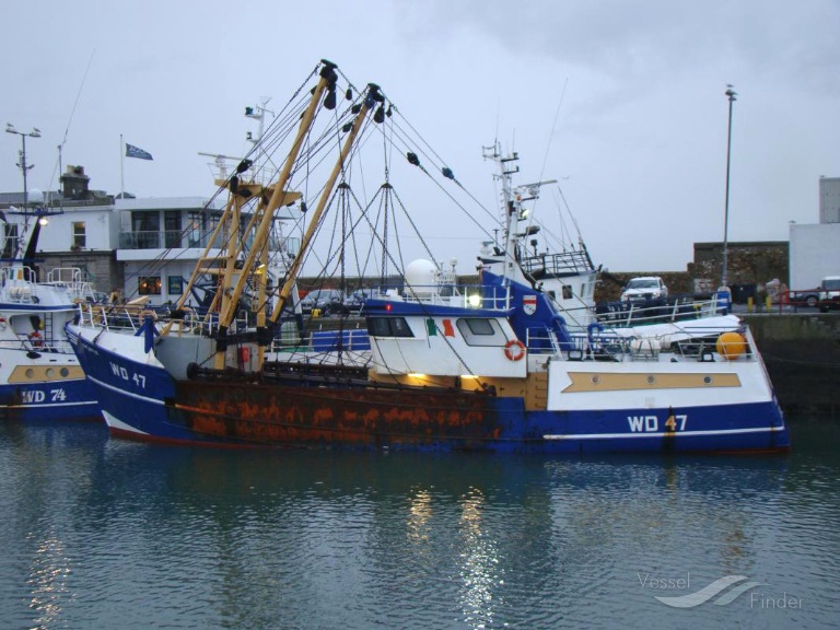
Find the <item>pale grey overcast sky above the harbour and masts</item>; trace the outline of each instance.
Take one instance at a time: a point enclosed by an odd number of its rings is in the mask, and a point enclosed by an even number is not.
[[[4,23],[0,124],[42,131],[31,188],[58,187],[63,142],[119,192],[122,133],[154,156],[125,161],[127,190],[209,196],[197,153],[243,153],[244,106],[285,103],[322,58],[381,84],[486,206],[494,139],[558,179],[614,271],[681,270],[723,238],[727,83],[731,241],[817,223],[819,176],[840,176],[839,0],[39,0]],[[1,191],[22,189],[20,148],[0,137]],[[480,240],[430,242],[466,260]]]

